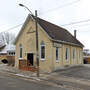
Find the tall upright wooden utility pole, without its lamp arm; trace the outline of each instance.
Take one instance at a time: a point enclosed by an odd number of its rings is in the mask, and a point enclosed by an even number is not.
[[[36,26],[36,61],[37,61],[37,77],[39,77],[39,53],[38,53],[37,10],[35,10],[35,26]]]

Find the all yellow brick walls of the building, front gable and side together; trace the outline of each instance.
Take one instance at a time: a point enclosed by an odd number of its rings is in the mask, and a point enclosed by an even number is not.
[[[34,53],[34,66],[36,66],[36,36],[35,32],[35,22],[30,19],[28,24],[25,26],[21,35],[19,36],[16,42],[16,56],[15,56],[15,66],[18,67],[19,64],[19,45],[22,44],[23,47],[23,59],[27,59],[27,53]],[[56,48],[53,47],[53,42],[49,39],[46,32],[38,25],[38,38],[39,38],[39,56],[40,56],[40,43],[44,41],[45,43],[45,60],[40,61],[40,70],[45,72],[51,72],[54,69],[60,68],[65,65],[78,64],[78,56],[75,60],[72,60],[72,50],[76,49],[76,54],[82,48],[62,44],[62,47],[59,48],[59,61],[56,62]],[[65,60],[65,49],[69,49],[69,58]],[[82,57],[81,57],[82,58]]]

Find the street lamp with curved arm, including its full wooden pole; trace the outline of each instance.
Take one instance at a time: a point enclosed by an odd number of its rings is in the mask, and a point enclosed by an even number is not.
[[[23,5],[23,4],[19,4],[19,6],[26,8],[29,12],[30,15],[33,16],[33,18],[35,19],[35,26],[36,26],[36,61],[37,61],[37,77],[39,77],[39,53],[38,53],[38,25],[37,25],[37,10],[35,10],[35,16],[32,14],[32,12],[30,11],[30,9]]]

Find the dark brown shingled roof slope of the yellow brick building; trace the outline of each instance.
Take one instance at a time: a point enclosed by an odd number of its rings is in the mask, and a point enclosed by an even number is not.
[[[60,40],[62,42],[71,43],[83,47],[83,44],[79,42],[71,33],[66,29],[38,18],[39,25],[45,30],[45,32],[54,40]]]

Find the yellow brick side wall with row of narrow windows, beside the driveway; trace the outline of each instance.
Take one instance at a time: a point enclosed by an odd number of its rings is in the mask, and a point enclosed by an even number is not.
[[[66,60],[66,48],[68,48],[68,59]],[[73,49],[75,50],[75,57],[73,58]],[[80,52],[80,53],[79,53]],[[56,61],[56,48],[53,47],[53,58],[54,58],[54,70],[60,69],[64,66],[69,65],[79,65],[83,64],[83,49],[76,46],[62,44],[62,47],[59,48],[59,60]]]

